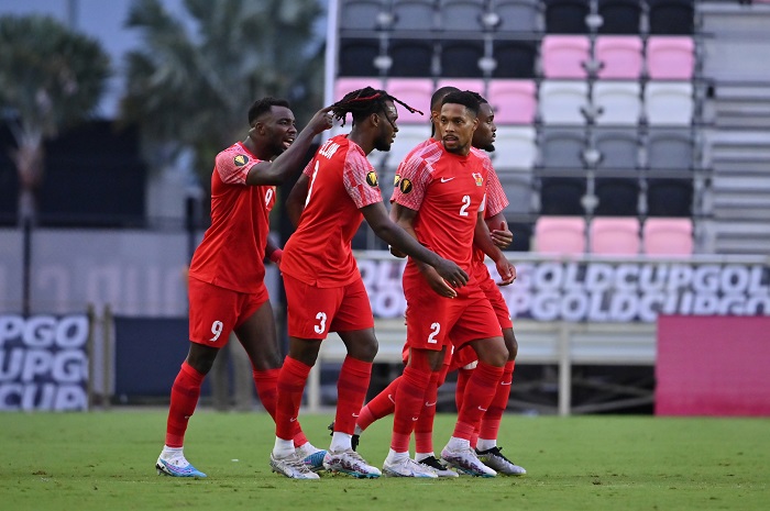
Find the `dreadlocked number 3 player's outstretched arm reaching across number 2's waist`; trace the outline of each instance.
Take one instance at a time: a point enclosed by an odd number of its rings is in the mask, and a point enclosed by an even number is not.
[[[424,247],[419,244],[417,238],[407,233],[398,224],[394,223],[388,216],[385,204],[383,204],[382,201],[361,208],[361,212],[377,237],[395,246],[411,258],[430,265],[452,287],[459,288],[468,284],[468,274],[465,274],[462,268],[453,262],[444,259],[435,252]],[[444,289],[442,289],[441,295],[452,298],[457,296],[457,292],[444,282]]]

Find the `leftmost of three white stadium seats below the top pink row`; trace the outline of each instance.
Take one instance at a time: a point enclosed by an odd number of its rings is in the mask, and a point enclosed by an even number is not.
[[[543,80],[540,85],[540,119],[546,124],[585,124],[582,109],[588,103],[583,80]]]

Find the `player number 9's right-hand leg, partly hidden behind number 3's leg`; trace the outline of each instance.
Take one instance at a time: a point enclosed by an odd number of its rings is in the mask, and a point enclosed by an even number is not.
[[[265,411],[275,421],[278,395],[278,374],[282,366],[280,348],[275,330],[275,316],[267,295],[260,300],[254,297],[253,307],[249,308],[246,319],[235,327],[235,334],[243,345],[252,366],[252,376],[256,393]],[[253,312],[251,310],[256,307]],[[298,455],[311,470],[323,468],[323,449],[316,448],[295,423],[294,446]]]

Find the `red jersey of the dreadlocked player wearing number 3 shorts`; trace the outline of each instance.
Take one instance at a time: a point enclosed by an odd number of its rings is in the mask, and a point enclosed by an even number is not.
[[[348,286],[361,278],[351,248],[364,218],[360,210],[383,200],[377,173],[346,135],[326,141],[304,173],[310,178],[307,201],[280,271],[319,288]]]

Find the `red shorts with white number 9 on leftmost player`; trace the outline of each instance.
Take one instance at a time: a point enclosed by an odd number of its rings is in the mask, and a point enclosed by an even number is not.
[[[233,329],[270,299],[264,285],[255,292],[238,292],[194,277],[189,278],[187,295],[190,341],[218,348],[228,344]]]

